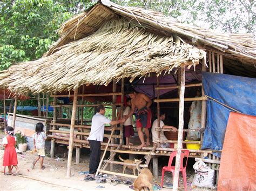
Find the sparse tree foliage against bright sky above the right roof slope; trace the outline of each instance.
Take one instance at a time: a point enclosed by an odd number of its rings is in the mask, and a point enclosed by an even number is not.
[[[180,22],[223,32],[255,33],[256,2],[253,0],[113,0],[124,6],[140,6],[162,12]]]

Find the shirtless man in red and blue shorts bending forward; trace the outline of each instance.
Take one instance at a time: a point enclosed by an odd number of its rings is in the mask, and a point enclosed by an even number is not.
[[[137,114],[139,119],[137,118],[136,127],[137,127],[140,142],[142,142],[142,144],[139,146],[139,148],[149,146],[150,145],[149,128],[151,127],[150,106],[152,104],[152,101],[144,93],[137,93],[134,90],[130,90],[129,92],[127,92],[127,94],[131,98],[131,111],[128,115],[126,115],[125,120],[127,120],[134,113],[134,111],[137,107],[138,111],[139,111],[138,114]],[[145,117],[145,114],[146,114],[146,117]],[[140,115],[144,115],[144,119],[140,118]],[[145,132],[146,137],[147,137],[146,144],[145,144],[144,134],[142,132],[142,128],[144,128],[144,132]]]

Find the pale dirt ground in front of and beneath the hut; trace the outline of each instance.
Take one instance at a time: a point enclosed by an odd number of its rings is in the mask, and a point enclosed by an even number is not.
[[[3,137],[4,133],[0,131],[1,144]],[[3,154],[3,147],[0,146],[1,163],[3,160]],[[78,172],[89,170],[90,153],[88,151],[82,154],[81,163],[79,164],[75,164],[75,158],[73,158],[71,178],[66,178],[66,158],[60,158],[60,160],[57,161],[56,158],[52,159],[46,156],[44,159],[44,166],[46,168],[44,170],[41,170],[39,169],[39,163],[36,164],[35,169],[31,169],[31,164],[32,161],[36,158],[36,154],[32,154],[30,151],[27,151],[23,152],[22,154],[17,154],[17,156],[18,167],[21,169],[23,175],[6,176],[4,175],[4,167],[1,166],[0,190],[132,190],[129,188],[129,186],[125,186],[123,184],[113,186],[109,183],[99,184],[95,181],[85,182],[83,180],[84,175],[80,175]],[[117,172],[122,173],[122,166],[116,165],[114,168]],[[161,167],[159,167],[159,175],[160,170]],[[132,170],[130,171],[130,173],[132,174]],[[188,173],[187,180],[191,179],[191,176],[192,175]],[[166,173],[165,182],[171,182],[170,179],[172,179],[171,173]],[[160,176],[159,178],[154,178],[154,183],[160,183]],[[98,185],[104,186],[105,188],[96,188]],[[166,191],[171,189],[163,188],[161,190]],[[184,190],[182,180],[180,180],[179,190]],[[191,190],[189,185],[188,190]]]

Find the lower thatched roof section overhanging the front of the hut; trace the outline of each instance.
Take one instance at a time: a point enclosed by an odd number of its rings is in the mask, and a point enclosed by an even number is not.
[[[1,86],[18,93],[72,90],[83,84],[107,85],[113,79],[171,72],[198,62],[205,52],[178,36],[160,36],[136,22],[113,17],[92,35],[59,47],[48,57],[11,66],[0,73]]]

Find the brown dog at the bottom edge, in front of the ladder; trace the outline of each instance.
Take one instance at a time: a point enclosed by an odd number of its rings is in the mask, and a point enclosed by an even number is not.
[[[137,165],[137,169],[139,170],[140,174],[133,183],[134,190],[140,191],[140,190],[147,190],[147,188],[149,188],[150,191],[153,191],[153,186],[151,184],[153,180],[153,175],[150,172],[150,169],[143,168],[142,170],[140,170],[139,165]]]

